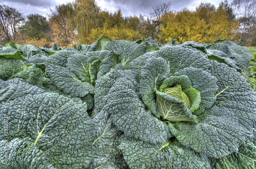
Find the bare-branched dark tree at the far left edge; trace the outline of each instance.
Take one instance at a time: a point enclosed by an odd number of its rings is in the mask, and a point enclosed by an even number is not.
[[[0,5],[0,29],[4,32],[3,39],[15,40],[18,25],[25,20],[22,13],[7,5]]]

